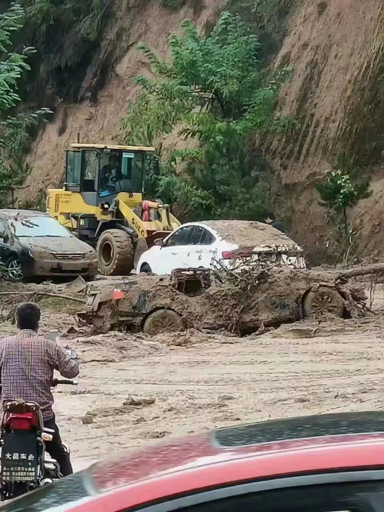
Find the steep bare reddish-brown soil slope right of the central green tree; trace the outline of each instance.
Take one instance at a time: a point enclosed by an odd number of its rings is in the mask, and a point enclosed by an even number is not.
[[[345,150],[360,158],[381,158],[384,104],[377,87],[383,26],[381,0],[303,0],[292,19],[276,65],[293,68],[281,93],[281,110],[300,127],[292,136],[275,139],[270,153],[275,180],[282,185],[282,207],[298,240],[305,236],[316,244],[324,233],[324,210],[314,184],[337,154]],[[383,254],[384,247],[382,172],[377,175],[374,196],[354,212],[360,233],[369,241],[367,254],[372,249]]]

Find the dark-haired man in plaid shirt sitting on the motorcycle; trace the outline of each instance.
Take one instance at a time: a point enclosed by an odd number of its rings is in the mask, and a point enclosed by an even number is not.
[[[60,464],[61,474],[67,476],[72,474],[72,466],[52,410],[51,383],[54,370],[63,377],[74,378],[79,373],[79,364],[65,349],[37,335],[39,320],[40,309],[36,304],[21,304],[16,309],[20,332],[0,340],[2,401],[22,399],[39,404],[44,426],[54,430],[52,441],[47,442],[47,452]]]

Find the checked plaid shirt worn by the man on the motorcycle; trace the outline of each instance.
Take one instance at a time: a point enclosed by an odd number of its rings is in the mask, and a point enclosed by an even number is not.
[[[63,377],[73,378],[79,373],[79,364],[65,349],[34,331],[20,331],[16,336],[0,340],[2,401],[36,402],[44,420],[51,419],[54,370]]]

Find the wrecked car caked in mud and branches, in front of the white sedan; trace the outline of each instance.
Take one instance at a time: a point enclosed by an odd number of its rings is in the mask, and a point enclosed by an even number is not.
[[[357,285],[333,272],[277,267],[242,276],[178,269],[94,281],[82,318],[96,330],[156,334],[193,327],[247,334],[308,317],[352,317],[366,300]],[[80,315],[81,316],[81,315]]]

